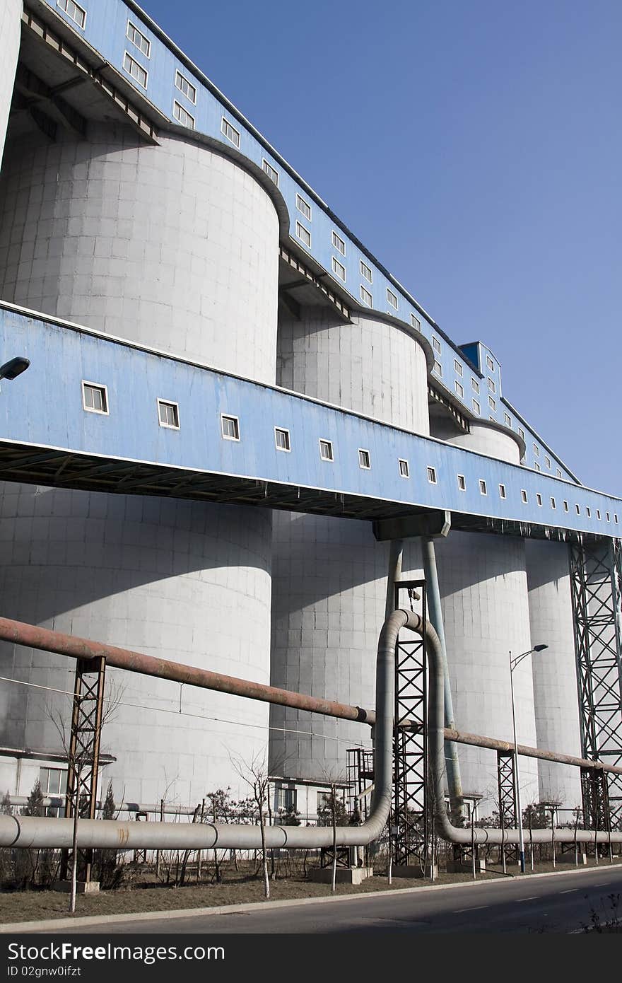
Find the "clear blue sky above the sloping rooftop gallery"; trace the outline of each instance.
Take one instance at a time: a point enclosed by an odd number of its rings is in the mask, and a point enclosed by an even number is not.
[[[622,494],[620,0],[142,0],[586,485]]]

